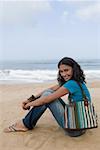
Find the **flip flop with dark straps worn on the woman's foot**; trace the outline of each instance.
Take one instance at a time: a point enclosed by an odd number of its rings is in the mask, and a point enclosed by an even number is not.
[[[8,128],[4,129],[4,132],[9,133],[9,132],[25,132],[27,130],[16,128],[16,124],[13,124],[9,126]]]

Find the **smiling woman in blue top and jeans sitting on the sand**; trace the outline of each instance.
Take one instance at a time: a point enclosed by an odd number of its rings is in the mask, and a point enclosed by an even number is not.
[[[22,103],[22,108],[31,110],[20,121],[16,122],[12,126],[9,126],[4,131],[28,131],[35,127],[37,121],[42,116],[47,108],[52,112],[57,123],[65,130],[64,127],[64,108],[65,102],[61,99],[66,94],[71,94],[73,101],[82,100],[82,92],[80,86],[84,90],[88,100],[91,100],[89,91],[85,84],[85,75],[80,65],[69,57],[64,57],[58,63],[58,85],[55,85],[37,96],[35,100],[30,99]],[[73,137],[80,136],[85,133],[85,130],[69,131],[65,132]]]

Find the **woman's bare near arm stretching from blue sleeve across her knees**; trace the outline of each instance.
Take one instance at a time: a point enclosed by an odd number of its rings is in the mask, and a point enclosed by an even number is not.
[[[58,90],[56,90],[54,93],[51,93],[48,96],[40,97],[37,100],[28,103],[26,105],[26,108],[29,107],[29,106],[34,107],[34,106],[40,106],[40,105],[50,103],[50,102],[56,100],[57,98],[62,97],[65,94],[68,94],[68,93],[69,93],[69,91],[62,86],[62,87],[58,88]]]

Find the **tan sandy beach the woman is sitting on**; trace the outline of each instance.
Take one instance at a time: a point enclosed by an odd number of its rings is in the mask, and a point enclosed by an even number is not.
[[[99,150],[100,127],[87,130],[83,136],[69,137],[58,126],[49,110],[43,114],[37,126],[27,132],[4,133],[3,129],[27,114],[21,103],[32,94],[54,83],[1,84],[0,85],[0,150]],[[100,81],[87,82],[92,101],[100,120]],[[99,123],[100,126],[100,123]]]

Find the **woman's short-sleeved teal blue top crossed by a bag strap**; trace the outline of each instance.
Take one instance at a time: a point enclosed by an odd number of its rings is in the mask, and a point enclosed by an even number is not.
[[[82,99],[83,98],[82,91],[80,89],[80,86],[77,84],[77,82],[75,80],[67,81],[66,83],[64,83],[63,87],[66,88],[69,91],[69,93],[71,94],[72,102],[83,100]],[[82,83],[81,87],[82,87],[86,97],[88,98],[88,100],[91,101],[90,93],[86,87],[86,84]]]

